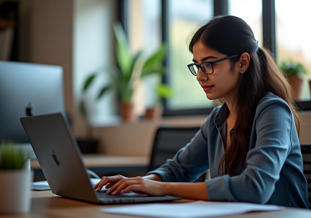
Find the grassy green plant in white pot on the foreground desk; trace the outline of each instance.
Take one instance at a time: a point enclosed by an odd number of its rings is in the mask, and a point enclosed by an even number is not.
[[[12,142],[0,143],[0,214],[29,212],[33,181],[29,158],[30,153]]]

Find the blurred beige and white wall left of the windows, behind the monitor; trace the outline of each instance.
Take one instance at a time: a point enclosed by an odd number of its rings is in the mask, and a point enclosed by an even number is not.
[[[78,112],[81,88],[89,73],[114,62],[111,24],[116,20],[116,3],[109,0],[20,0],[19,60],[61,65],[64,69],[66,112],[77,137],[86,133],[86,122]],[[98,121],[115,113],[110,94],[95,101],[102,76],[86,95],[88,110]],[[95,85],[96,85],[95,84]],[[91,101],[91,102],[90,102]]]

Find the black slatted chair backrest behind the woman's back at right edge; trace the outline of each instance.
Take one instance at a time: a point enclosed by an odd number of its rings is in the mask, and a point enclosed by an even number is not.
[[[300,149],[304,164],[304,176],[308,183],[309,208],[311,209],[311,144],[300,145]]]

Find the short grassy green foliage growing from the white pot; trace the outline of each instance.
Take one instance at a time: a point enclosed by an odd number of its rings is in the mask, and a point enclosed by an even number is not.
[[[12,141],[1,141],[0,169],[21,169],[29,158],[30,153],[25,153],[22,148],[15,148]]]

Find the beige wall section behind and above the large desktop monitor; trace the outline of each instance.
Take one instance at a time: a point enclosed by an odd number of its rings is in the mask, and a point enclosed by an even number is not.
[[[72,0],[20,1],[20,60],[61,65],[64,69],[65,107],[73,114]]]

